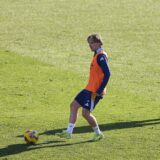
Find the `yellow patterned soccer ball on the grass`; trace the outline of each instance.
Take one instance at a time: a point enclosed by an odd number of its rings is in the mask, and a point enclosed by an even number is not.
[[[27,130],[24,133],[24,140],[27,144],[35,144],[37,143],[39,138],[38,132],[36,130]]]

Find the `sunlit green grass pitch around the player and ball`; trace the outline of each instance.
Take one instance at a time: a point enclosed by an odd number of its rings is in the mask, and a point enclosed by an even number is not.
[[[0,160],[160,159],[159,0],[0,1]],[[109,55],[108,93],[94,110],[105,138],[69,105],[88,80],[98,32]],[[35,129],[37,145],[23,133]]]

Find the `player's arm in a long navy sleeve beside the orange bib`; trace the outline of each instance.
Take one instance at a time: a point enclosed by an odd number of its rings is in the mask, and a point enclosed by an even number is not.
[[[101,67],[103,73],[104,73],[104,78],[103,81],[100,85],[100,87],[97,90],[97,95],[102,95],[102,92],[104,90],[104,88],[106,87],[109,77],[110,77],[110,70],[109,70],[109,66],[108,66],[108,61],[107,58],[104,54],[100,54],[97,57],[97,63],[99,64],[99,66]]]

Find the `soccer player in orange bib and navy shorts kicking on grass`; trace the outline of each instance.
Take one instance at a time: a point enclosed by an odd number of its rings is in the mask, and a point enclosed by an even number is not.
[[[93,128],[95,132],[92,141],[102,139],[103,133],[100,131],[95,116],[91,113],[99,100],[106,93],[106,85],[110,77],[108,66],[108,56],[103,50],[102,39],[98,34],[92,34],[87,38],[91,51],[94,52],[93,59],[90,65],[89,81],[85,89],[78,93],[70,105],[70,117],[67,130],[61,133],[56,133],[61,138],[70,139],[77,120],[78,109],[82,107],[82,115]]]

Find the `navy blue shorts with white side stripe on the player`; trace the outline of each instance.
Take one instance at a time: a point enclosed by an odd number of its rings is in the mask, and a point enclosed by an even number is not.
[[[92,99],[92,92],[83,89],[81,92],[77,94],[75,100],[83,107],[88,109],[89,111],[93,111],[96,104],[99,100],[102,99],[102,96],[96,96],[95,99]]]

